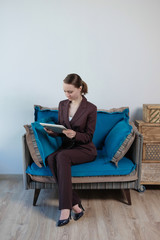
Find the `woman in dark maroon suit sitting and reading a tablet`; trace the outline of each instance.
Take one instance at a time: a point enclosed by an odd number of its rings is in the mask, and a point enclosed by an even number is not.
[[[59,103],[58,124],[64,125],[62,146],[47,157],[48,166],[58,183],[60,219],[57,226],[67,224],[74,212],[74,220],[83,216],[83,207],[77,193],[72,190],[71,165],[91,162],[96,158],[92,142],[95,131],[97,108],[84,95],[87,84],[79,75],[69,74],[63,81],[67,100]],[[56,133],[45,129],[51,136]]]

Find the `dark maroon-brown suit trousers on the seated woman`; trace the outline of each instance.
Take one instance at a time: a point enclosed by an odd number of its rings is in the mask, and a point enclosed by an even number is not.
[[[81,202],[77,193],[72,190],[71,166],[91,162],[96,156],[86,154],[81,148],[59,149],[47,157],[48,166],[58,183],[59,209],[72,209]]]

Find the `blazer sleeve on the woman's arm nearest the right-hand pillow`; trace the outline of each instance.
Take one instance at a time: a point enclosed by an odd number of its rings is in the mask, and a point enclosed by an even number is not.
[[[76,132],[75,141],[85,144],[92,141],[93,134],[96,127],[97,107],[94,105],[92,111],[88,114],[86,121],[86,128],[84,132]]]

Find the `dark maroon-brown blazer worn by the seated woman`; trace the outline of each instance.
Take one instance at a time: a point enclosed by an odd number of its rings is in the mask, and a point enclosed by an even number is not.
[[[69,121],[69,104],[69,100],[59,103],[58,123],[76,132],[75,147],[82,148],[86,153],[96,156],[97,150],[92,138],[96,126],[97,107],[83,96],[77,112]]]

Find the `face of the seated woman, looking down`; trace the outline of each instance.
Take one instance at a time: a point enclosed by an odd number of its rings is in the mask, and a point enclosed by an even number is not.
[[[74,101],[81,96],[82,87],[76,88],[72,84],[63,83],[63,90],[64,90],[66,97],[70,101]]]

